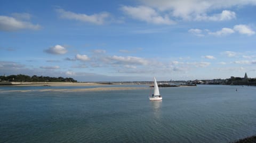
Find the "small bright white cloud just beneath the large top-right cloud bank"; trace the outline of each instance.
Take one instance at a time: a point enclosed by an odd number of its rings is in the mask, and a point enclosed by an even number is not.
[[[233,11],[223,10],[220,14],[214,14],[212,16],[207,16],[206,14],[197,15],[196,21],[226,21],[236,18],[236,13]]]

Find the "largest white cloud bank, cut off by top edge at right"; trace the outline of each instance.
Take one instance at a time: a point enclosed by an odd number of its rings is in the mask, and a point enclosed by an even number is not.
[[[216,11],[219,9],[228,9],[234,6],[255,5],[254,0],[141,0],[147,6],[155,7],[161,11],[167,11],[177,18],[183,20],[196,20],[198,16],[203,16],[205,20],[230,20],[235,18],[235,13],[231,11],[222,11],[220,14],[207,16],[207,12]],[[201,18],[202,19],[202,18]]]

